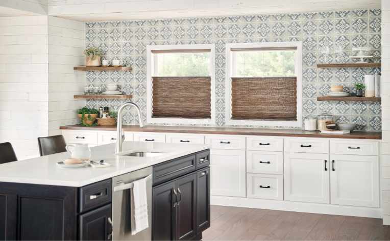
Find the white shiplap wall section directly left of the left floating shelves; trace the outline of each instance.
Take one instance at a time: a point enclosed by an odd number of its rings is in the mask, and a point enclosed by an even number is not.
[[[84,64],[84,23],[48,17],[48,121],[49,135],[59,135],[61,125],[78,123],[76,110],[85,100],[75,100],[85,87],[85,73],[73,70]]]

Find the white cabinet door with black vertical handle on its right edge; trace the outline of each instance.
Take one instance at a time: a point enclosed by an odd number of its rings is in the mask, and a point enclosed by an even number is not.
[[[328,154],[284,154],[284,200],[329,203]]]

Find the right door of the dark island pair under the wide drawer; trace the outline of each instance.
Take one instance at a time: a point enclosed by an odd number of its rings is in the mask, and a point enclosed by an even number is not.
[[[196,195],[197,174],[178,178],[176,181],[177,203],[177,239],[189,240],[197,234]]]

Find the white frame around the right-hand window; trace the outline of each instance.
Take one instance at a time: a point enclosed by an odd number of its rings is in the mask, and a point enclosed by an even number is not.
[[[296,47],[295,73],[297,77],[297,120],[237,120],[232,119],[231,78],[233,68],[236,68],[235,58],[231,48],[265,48],[265,47]],[[234,71],[236,72],[236,71]],[[226,44],[226,78],[225,78],[225,122],[227,125],[260,125],[260,126],[283,126],[302,127],[302,42],[267,42],[267,43],[227,43]]]

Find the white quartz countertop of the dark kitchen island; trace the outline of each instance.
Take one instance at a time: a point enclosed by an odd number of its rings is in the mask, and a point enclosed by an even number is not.
[[[0,182],[80,187],[208,148],[209,145],[203,144],[124,142],[123,151],[126,153],[137,151],[166,153],[155,157],[136,157],[115,155],[115,144],[108,144],[92,147],[91,159],[97,162],[104,159],[106,163],[112,165],[111,167],[93,168],[88,165],[75,169],[61,168],[57,166],[57,162],[70,157],[68,152],[62,152],[1,164]]]

